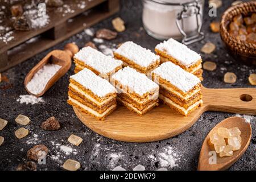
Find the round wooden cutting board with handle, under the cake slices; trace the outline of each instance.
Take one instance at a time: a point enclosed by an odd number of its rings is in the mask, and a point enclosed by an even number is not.
[[[176,113],[167,105],[159,104],[142,117],[119,106],[105,121],[97,121],[88,114],[75,110],[84,125],[105,137],[124,142],[154,142],[174,137],[188,130],[205,111],[223,111],[256,115],[256,89],[202,88],[204,104],[188,117]]]

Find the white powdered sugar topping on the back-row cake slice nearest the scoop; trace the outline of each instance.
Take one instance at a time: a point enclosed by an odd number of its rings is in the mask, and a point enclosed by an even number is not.
[[[106,56],[89,46],[82,48],[74,57],[101,74],[113,72],[115,68],[122,65],[122,61],[113,59],[111,56]]]

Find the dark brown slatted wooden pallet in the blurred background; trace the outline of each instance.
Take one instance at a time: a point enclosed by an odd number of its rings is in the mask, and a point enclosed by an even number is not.
[[[51,22],[46,27],[31,31],[14,31],[13,40],[7,44],[0,42],[0,72],[63,42],[119,10],[119,0],[88,0],[85,2],[86,6],[83,9],[77,7],[73,13],[65,16],[58,15],[54,11],[49,12]],[[68,3],[73,3],[73,1],[65,1],[65,4]]]

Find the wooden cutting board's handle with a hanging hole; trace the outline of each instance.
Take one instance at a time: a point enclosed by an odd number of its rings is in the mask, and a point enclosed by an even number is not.
[[[256,88],[202,89],[205,111],[256,115]]]

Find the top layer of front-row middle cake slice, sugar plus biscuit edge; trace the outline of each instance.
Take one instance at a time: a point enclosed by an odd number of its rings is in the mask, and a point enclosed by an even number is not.
[[[150,95],[153,96],[159,90],[159,86],[155,82],[130,67],[120,69],[112,76],[111,82],[122,92],[134,94],[142,99]]]

